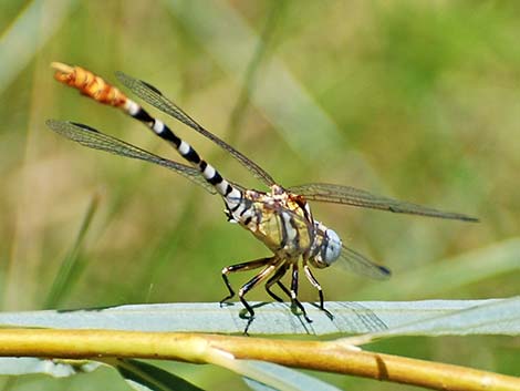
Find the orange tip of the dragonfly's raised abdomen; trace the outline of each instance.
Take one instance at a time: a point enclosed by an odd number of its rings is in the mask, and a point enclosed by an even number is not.
[[[94,101],[116,107],[123,107],[127,101],[123,92],[91,71],[62,62],[52,62],[51,66],[56,71],[54,73],[55,80],[80,90],[82,94]]]

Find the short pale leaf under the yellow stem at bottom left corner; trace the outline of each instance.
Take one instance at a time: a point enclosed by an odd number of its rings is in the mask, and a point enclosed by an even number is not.
[[[66,378],[76,373],[96,370],[100,363],[85,360],[50,360],[32,357],[0,358],[0,375],[49,374],[53,378]]]

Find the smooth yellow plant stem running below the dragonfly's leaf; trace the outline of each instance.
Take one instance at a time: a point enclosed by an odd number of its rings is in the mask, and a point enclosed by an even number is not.
[[[349,349],[337,341],[270,340],[178,332],[1,329],[0,356],[107,357],[215,361],[216,352],[293,368],[354,374],[434,390],[519,390],[520,379],[475,369]],[[230,357],[231,357],[230,356]],[[217,363],[217,362],[215,362]]]

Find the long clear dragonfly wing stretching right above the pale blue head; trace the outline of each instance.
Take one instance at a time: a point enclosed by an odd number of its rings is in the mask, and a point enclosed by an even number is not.
[[[289,191],[300,194],[310,200],[345,204],[365,208],[388,210],[438,218],[450,218],[464,222],[478,222],[477,218],[460,213],[443,212],[427,206],[377,196],[366,191],[342,185],[323,183],[306,184],[290,187]]]

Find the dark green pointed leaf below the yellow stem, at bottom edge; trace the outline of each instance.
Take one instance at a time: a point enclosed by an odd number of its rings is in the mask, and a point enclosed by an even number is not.
[[[202,389],[164,369],[132,359],[106,360],[138,391],[201,391]]]

